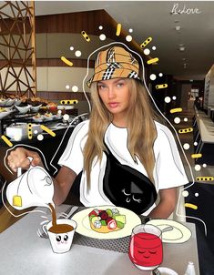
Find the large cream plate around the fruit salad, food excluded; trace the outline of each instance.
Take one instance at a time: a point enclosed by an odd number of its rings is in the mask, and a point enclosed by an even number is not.
[[[108,233],[99,233],[94,231],[90,227],[88,214],[93,209],[118,209],[121,215],[126,215],[126,225],[123,229],[118,231],[112,231]],[[138,224],[141,224],[141,220],[139,219],[138,215],[131,210],[123,209],[115,206],[100,206],[100,207],[93,207],[89,209],[84,209],[80,212],[77,212],[72,219],[74,219],[77,223],[76,232],[91,238],[96,239],[119,239],[123,237],[127,237],[131,235],[132,229],[135,228]]]

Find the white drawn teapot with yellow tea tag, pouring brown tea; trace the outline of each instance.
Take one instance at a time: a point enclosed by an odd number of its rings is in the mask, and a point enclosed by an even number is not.
[[[52,178],[41,167],[30,167],[24,174],[18,168],[18,178],[6,188],[6,199],[18,210],[29,207],[48,207],[53,204],[54,184]]]

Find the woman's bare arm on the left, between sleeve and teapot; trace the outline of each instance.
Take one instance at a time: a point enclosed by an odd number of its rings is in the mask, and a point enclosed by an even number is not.
[[[72,169],[66,168],[66,166],[60,168],[56,178],[53,178],[55,185],[54,202],[56,205],[62,204],[66,200],[75,178],[76,173]]]

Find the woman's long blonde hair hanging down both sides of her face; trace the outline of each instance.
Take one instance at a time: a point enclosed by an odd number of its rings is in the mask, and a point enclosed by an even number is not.
[[[130,91],[130,104],[128,107],[127,148],[137,162],[136,156],[144,165],[148,178],[154,182],[153,169],[155,157],[153,144],[157,138],[157,131],[154,119],[158,116],[151,107],[150,97],[146,88],[135,79],[125,78]],[[87,143],[83,150],[84,169],[87,172],[87,184],[90,185],[90,170],[94,165],[93,161],[101,161],[103,151],[107,151],[104,144],[104,135],[108,125],[112,122],[113,116],[104,106],[98,95],[97,83],[91,85],[92,111],[90,114]]]

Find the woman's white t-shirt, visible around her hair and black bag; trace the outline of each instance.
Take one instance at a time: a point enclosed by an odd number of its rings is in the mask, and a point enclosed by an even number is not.
[[[155,168],[153,177],[155,187],[159,189],[174,188],[189,182],[183,164],[181,162],[177,144],[168,127],[155,121],[158,136],[154,142]],[[58,161],[60,166],[66,166],[75,171],[76,175],[83,169],[83,148],[87,141],[89,120],[78,124],[68,140],[66,150]],[[144,166],[138,161],[134,162],[127,149],[127,128],[116,127],[112,123],[107,127],[105,143],[117,160],[124,165],[137,169],[148,176]],[[91,185],[87,188],[86,173],[83,172],[80,182],[80,201],[86,207],[111,205],[111,201],[103,191],[103,177],[107,163],[107,157],[103,154],[102,161],[94,159],[90,174]],[[148,215],[152,206],[144,215]]]

